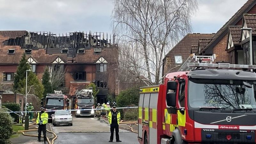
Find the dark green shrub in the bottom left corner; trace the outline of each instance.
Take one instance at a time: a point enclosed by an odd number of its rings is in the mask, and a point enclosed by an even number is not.
[[[10,144],[12,136],[12,117],[8,113],[0,111],[0,143]]]

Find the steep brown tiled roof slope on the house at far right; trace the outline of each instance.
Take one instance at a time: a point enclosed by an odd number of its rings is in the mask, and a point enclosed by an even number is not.
[[[255,0],[248,0],[216,33],[215,36],[213,36],[212,41],[204,48],[204,50],[213,48],[215,46],[214,43],[220,41],[222,37],[220,37],[223,33],[227,33],[228,26],[235,25],[237,20],[241,19],[243,16],[243,13],[247,13],[246,10],[248,7],[250,7],[252,4],[255,4]],[[249,11],[249,10],[248,10]]]

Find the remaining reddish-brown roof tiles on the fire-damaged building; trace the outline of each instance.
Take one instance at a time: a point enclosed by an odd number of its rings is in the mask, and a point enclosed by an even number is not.
[[[3,42],[10,38],[22,37],[27,33],[27,31],[0,31],[0,64],[18,64],[20,62],[25,49],[20,46],[4,45]],[[9,49],[15,49],[15,53],[8,54]],[[109,64],[116,64],[118,61],[118,47],[113,45],[110,48],[103,47],[100,53],[94,53],[94,48],[87,48],[85,53],[76,54],[74,60],[72,60],[72,57],[68,57],[68,54],[62,54],[61,48],[33,49],[31,54],[27,54],[27,57],[29,56],[33,56],[39,64],[50,64],[58,56],[67,63],[95,63],[103,56]]]

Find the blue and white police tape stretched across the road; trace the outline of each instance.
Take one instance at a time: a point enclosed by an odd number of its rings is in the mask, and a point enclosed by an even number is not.
[[[116,108],[116,109],[128,109],[128,108],[138,108],[138,107],[121,107],[121,108]],[[109,108],[111,109],[111,108]],[[90,109],[54,109],[54,110],[48,110],[46,109],[45,112],[55,112],[55,111],[63,111],[63,110],[68,110],[68,111],[92,111],[92,110],[107,110],[105,108],[90,108]],[[40,112],[40,111],[27,111],[29,113],[32,112]],[[26,111],[8,111],[8,112],[4,112],[4,113],[26,113]]]

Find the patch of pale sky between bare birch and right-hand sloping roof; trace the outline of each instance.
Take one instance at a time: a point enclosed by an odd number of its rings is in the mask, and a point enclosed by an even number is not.
[[[215,33],[247,0],[200,0],[192,18],[194,32]]]

